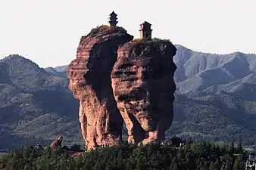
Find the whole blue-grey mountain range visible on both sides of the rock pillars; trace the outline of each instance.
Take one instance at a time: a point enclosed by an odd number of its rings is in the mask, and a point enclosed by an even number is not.
[[[256,140],[256,55],[218,55],[176,45],[173,125],[183,138]],[[78,101],[68,89],[67,66],[39,68],[18,55],[0,60],[0,150],[26,142],[49,144],[58,134],[80,142]]]

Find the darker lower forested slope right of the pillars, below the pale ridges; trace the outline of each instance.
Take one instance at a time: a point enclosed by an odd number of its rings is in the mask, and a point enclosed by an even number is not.
[[[256,139],[256,102],[229,95],[200,98],[177,97],[173,125],[167,136],[210,141],[233,141],[241,136],[251,145]]]

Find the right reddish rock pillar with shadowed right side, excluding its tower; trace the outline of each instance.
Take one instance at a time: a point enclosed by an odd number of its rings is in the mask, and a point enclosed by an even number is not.
[[[175,46],[167,40],[128,42],[111,73],[114,97],[128,130],[128,142],[164,140],[173,121]]]

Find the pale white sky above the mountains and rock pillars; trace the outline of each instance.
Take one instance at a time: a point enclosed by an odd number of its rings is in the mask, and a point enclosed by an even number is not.
[[[152,36],[193,51],[256,53],[256,0],[0,0],[0,59],[20,54],[40,67],[69,64],[81,36],[108,24],[139,38],[139,24]]]

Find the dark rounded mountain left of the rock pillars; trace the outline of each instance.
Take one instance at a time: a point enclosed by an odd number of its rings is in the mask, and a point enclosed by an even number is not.
[[[67,85],[19,55],[0,60],[0,149],[59,134],[79,140],[78,103]]]

